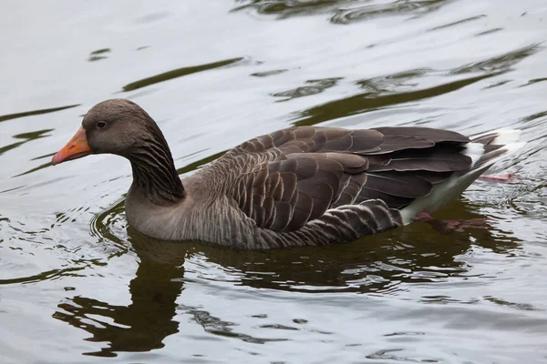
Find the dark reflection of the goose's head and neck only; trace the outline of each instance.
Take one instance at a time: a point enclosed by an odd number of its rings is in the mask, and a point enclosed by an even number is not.
[[[85,354],[113,357],[117,351],[160,349],[163,339],[179,331],[179,323],[173,317],[176,299],[183,289],[184,268],[146,252],[138,254],[139,268],[129,284],[129,306],[75,296],[59,304],[59,310],[53,314],[55,319],[88,331],[92,335],[89,341],[108,343],[107,348]]]

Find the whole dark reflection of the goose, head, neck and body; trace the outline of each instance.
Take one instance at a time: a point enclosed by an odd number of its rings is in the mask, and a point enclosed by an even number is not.
[[[449,206],[449,215],[482,217],[462,201]],[[101,238],[116,239],[108,233],[108,224],[115,220],[123,220],[122,204],[94,222]],[[112,357],[121,351],[160,349],[164,339],[181,330],[176,319],[177,309],[181,311],[177,299],[185,284],[212,279],[285,291],[394,295],[408,284],[464,276],[469,267],[456,258],[470,248],[471,240],[500,253],[518,248],[516,240],[506,234],[498,234],[503,238],[496,239],[491,231],[495,230],[466,229],[446,235],[427,224],[415,223],[338,246],[236,251],[153,240],[129,227],[129,242],[123,244],[130,245],[139,258],[139,268],[129,284],[131,304],[115,306],[75,296],[59,304],[53,317],[88,331],[89,341],[108,343],[106,348],[87,355]],[[221,273],[214,269],[213,276],[209,269],[213,266],[220,267]],[[185,283],[189,280],[191,283]],[[402,283],[407,283],[406,288]],[[214,318],[202,308],[184,310],[209,334],[259,343],[266,340],[235,333],[235,324]]]

